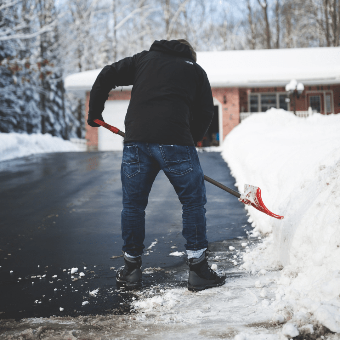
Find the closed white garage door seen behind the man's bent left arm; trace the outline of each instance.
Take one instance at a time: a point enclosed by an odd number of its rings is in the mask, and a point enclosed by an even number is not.
[[[124,119],[129,103],[130,100],[107,100],[103,111],[105,122],[125,132]],[[123,150],[123,137],[100,126],[98,128],[98,150]]]

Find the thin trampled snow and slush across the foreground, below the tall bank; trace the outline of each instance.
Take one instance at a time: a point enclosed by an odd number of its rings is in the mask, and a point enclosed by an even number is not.
[[[236,335],[248,339],[245,337],[251,335],[252,339],[283,340],[285,338],[277,332],[281,327],[271,322],[273,309],[270,299],[275,299],[273,287],[278,279],[275,277],[276,272],[266,272],[254,278],[253,275],[244,275],[231,262],[234,255],[241,259],[246,251],[250,251],[249,247],[244,249],[241,246],[243,240],[212,245],[215,249],[210,254],[210,263],[227,272],[227,283],[222,287],[198,293],[188,291],[185,287],[188,267],[183,264],[173,272],[168,272],[171,281],[130,292],[115,289],[122,296],[125,295],[126,300],[123,301],[130,303],[131,310],[126,315],[105,313],[104,316],[96,317],[51,316],[20,321],[0,320],[0,339],[205,340],[233,339]],[[234,250],[230,251],[229,245]],[[147,268],[143,272],[152,274],[159,270],[162,271],[160,268]],[[105,290],[112,292],[108,286],[94,291],[87,290],[82,306],[95,303],[97,294]],[[60,306],[57,307],[59,309]],[[82,307],[78,305],[78,308]]]

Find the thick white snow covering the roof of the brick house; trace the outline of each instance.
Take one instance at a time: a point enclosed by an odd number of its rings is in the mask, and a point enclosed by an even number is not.
[[[197,52],[211,87],[285,86],[291,79],[305,85],[339,84],[339,61],[340,47]],[[68,75],[66,89],[90,90],[100,70]]]

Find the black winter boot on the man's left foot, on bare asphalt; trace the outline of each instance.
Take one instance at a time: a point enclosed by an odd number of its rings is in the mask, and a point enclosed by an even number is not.
[[[128,288],[139,288],[142,284],[142,257],[127,257],[124,253],[125,266],[117,270],[116,280],[118,285],[124,285]]]

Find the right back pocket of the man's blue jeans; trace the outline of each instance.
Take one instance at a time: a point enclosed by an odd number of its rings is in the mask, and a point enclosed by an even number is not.
[[[164,162],[171,172],[184,175],[192,171],[190,151],[184,145],[160,145]]]

